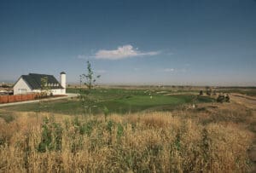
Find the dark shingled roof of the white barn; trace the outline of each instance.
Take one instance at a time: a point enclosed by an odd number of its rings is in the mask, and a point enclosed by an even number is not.
[[[49,89],[63,89],[53,75],[29,73],[28,75],[22,75],[20,78],[23,78],[31,89],[42,89],[41,78],[45,77],[47,78]]]

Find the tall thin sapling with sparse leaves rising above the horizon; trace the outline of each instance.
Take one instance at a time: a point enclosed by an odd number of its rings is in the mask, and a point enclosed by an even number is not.
[[[82,107],[85,110],[87,109],[89,114],[91,114],[91,107],[95,103],[95,99],[91,96],[92,90],[96,86],[96,78],[100,78],[100,75],[95,75],[93,72],[90,61],[87,61],[87,72],[81,74],[80,77],[80,101]],[[86,89],[82,89],[82,84],[86,86]]]

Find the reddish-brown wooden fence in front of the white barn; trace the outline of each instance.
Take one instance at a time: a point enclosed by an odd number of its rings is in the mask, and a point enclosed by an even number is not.
[[[0,103],[12,103],[17,101],[32,101],[35,100],[37,94],[28,95],[0,95]]]

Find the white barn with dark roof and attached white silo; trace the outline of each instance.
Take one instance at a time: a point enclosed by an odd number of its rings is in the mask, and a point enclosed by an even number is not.
[[[21,75],[14,85],[14,95],[24,95],[29,93],[40,93],[42,91],[42,78],[47,78],[49,92],[53,95],[66,94],[66,73],[61,72],[60,83],[53,75],[29,73]]]

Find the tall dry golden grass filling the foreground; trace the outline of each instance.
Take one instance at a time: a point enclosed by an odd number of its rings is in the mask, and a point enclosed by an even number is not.
[[[47,118],[48,117],[48,118]],[[0,119],[1,172],[245,172],[252,135],[171,112]]]

